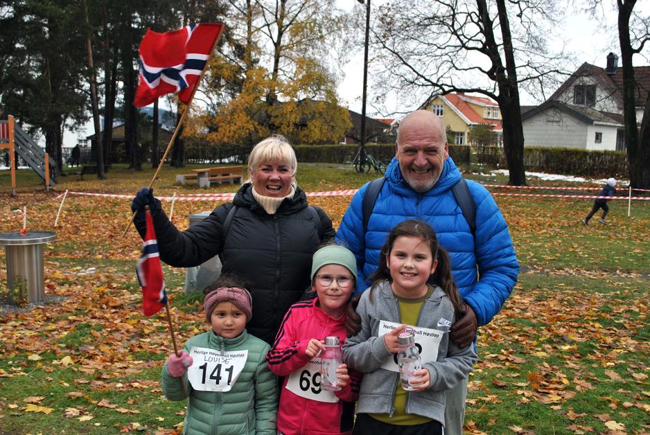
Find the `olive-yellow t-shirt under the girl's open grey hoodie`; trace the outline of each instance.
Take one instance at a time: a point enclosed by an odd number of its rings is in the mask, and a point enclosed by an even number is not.
[[[427,294],[417,299],[407,299],[393,294],[393,296],[397,298],[397,303],[399,305],[400,322],[405,325],[416,326],[422,305],[432,293],[433,287],[429,285]],[[432,421],[431,418],[406,413],[408,391],[402,388],[401,382],[399,381],[399,373],[395,373],[395,375],[397,376],[398,381],[397,387],[395,387],[395,400],[393,402],[395,411],[393,416],[389,417],[389,414],[370,414],[370,416],[380,422],[400,426],[423,425]],[[412,392],[412,394],[417,393]]]

